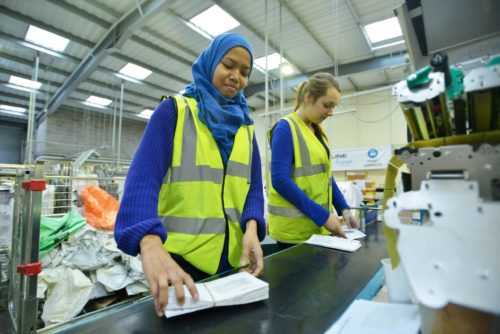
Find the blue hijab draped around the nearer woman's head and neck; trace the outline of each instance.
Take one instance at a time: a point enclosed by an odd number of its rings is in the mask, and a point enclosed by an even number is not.
[[[222,57],[236,46],[244,47],[250,53],[251,69],[253,52],[250,43],[238,34],[221,34],[194,62],[192,69],[194,83],[186,86],[183,94],[195,98],[198,102],[198,117],[212,132],[224,166],[227,165],[234,144],[234,136],[240,126],[253,124],[248,113],[247,101],[241,91],[229,99],[212,84],[215,68]]]

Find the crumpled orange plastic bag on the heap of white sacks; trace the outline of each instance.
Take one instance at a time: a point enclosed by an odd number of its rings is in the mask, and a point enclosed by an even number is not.
[[[113,230],[120,203],[116,198],[98,186],[86,186],[82,189],[84,204],[83,216],[87,222],[103,230]]]

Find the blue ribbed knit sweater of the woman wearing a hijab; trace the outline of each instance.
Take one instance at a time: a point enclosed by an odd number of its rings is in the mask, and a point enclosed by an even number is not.
[[[167,240],[163,222],[158,218],[158,197],[163,178],[172,162],[173,141],[177,111],[172,99],[160,103],[151,116],[143,138],[134,155],[125,181],[123,198],[115,223],[115,240],[123,252],[135,256],[140,252],[140,241],[147,234]],[[255,219],[259,240],[264,239],[264,198],[259,149],[254,138],[252,181],[241,216],[241,229]],[[227,234],[227,233],[226,233]],[[227,235],[219,271],[229,269]]]

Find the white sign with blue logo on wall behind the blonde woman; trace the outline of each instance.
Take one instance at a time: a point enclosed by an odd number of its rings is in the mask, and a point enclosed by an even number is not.
[[[334,171],[385,169],[391,157],[391,145],[333,150],[332,168]]]

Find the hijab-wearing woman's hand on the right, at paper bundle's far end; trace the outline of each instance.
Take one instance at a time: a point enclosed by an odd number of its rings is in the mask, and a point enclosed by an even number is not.
[[[240,265],[246,267],[244,270],[250,274],[260,276],[264,272],[263,257],[262,247],[257,236],[257,222],[252,219],[247,222],[243,235],[243,254]],[[250,264],[247,266],[249,262]]]

